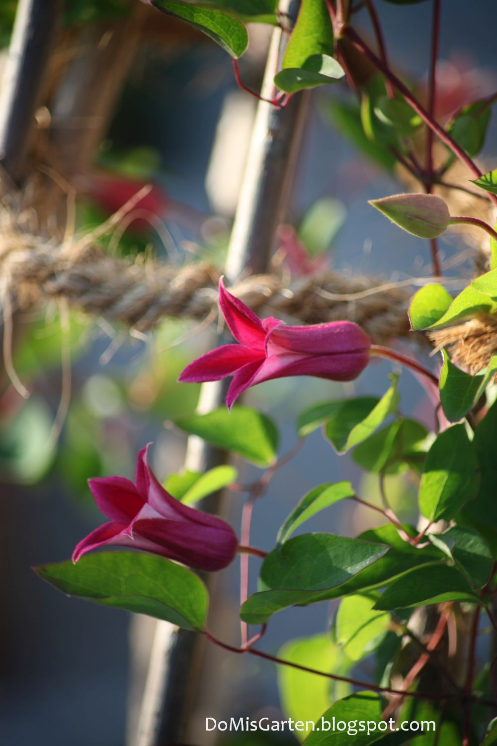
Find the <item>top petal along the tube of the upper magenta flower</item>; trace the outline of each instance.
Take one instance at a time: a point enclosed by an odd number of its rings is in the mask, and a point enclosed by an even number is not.
[[[270,331],[267,351],[276,354],[275,347],[306,354],[334,354],[369,350],[370,338],[353,322],[329,322],[311,326],[281,325]]]

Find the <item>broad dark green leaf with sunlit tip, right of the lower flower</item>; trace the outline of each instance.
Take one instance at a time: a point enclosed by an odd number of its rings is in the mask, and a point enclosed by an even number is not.
[[[261,580],[277,590],[323,591],[349,580],[387,553],[383,544],[332,533],[295,536],[262,563]]]

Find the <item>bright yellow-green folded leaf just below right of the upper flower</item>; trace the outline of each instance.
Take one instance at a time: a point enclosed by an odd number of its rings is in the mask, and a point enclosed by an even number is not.
[[[399,406],[398,380],[398,376],[392,377],[392,386],[379,401],[373,397],[362,397],[342,402],[325,427],[326,437],[338,453],[343,454],[368,438],[388,415],[395,412]]]

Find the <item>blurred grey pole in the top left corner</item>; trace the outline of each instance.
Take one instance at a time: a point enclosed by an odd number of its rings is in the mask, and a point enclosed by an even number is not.
[[[22,179],[34,113],[48,68],[61,0],[19,0],[0,87],[0,165]]]

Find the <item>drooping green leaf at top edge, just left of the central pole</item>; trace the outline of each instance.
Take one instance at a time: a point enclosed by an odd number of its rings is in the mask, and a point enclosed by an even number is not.
[[[247,29],[235,16],[177,0],[152,0],[151,4],[162,13],[203,31],[232,57],[241,57],[247,48]]]

